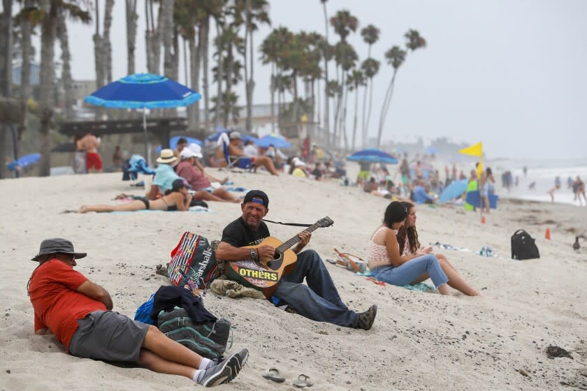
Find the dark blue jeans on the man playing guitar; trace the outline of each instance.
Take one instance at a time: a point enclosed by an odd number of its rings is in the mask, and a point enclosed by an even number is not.
[[[281,279],[274,295],[312,320],[343,327],[352,327],[358,320],[358,313],[340,299],[330,273],[314,250],[298,253],[296,267]]]

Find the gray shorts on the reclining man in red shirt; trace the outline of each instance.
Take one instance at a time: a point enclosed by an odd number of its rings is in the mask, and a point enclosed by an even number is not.
[[[149,330],[146,323],[112,311],[94,311],[78,319],[69,353],[94,360],[137,362]]]

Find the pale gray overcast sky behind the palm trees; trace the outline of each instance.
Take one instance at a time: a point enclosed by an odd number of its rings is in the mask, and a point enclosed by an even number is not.
[[[136,70],[146,71],[143,2],[138,3]],[[327,8],[329,16],[350,10],[359,29],[367,24],[381,29],[372,50],[383,64],[375,78],[371,136],[377,135],[392,75],[383,54],[404,44],[407,29],[417,29],[428,47],[410,53],[398,72],[384,139],[482,140],[491,158],[587,156],[587,1],[330,0]],[[270,1],[270,18],[272,27],[324,34],[319,0]],[[254,36],[257,47],[269,31],[263,27]],[[69,32],[73,77],[93,79],[93,26],[72,23]],[[115,78],[126,75],[125,34],[124,1],[118,0],[111,36]],[[329,38],[337,40],[332,29]],[[349,42],[365,59],[367,46],[358,31]],[[270,68],[259,61],[254,103],[269,103],[269,76]],[[244,87],[240,96],[244,104]]]

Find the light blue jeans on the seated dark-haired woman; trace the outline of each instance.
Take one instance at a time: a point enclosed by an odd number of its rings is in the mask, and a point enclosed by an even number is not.
[[[434,286],[438,288],[449,281],[447,274],[444,274],[440,262],[433,254],[419,256],[398,267],[379,266],[371,270],[379,281],[391,283],[391,285],[405,286],[416,281],[423,272],[428,273]]]

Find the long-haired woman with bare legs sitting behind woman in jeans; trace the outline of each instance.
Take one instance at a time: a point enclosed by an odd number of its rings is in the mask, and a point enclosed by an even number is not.
[[[402,202],[402,205],[407,208],[407,217],[404,221],[403,226],[401,226],[398,230],[398,243],[400,244],[401,255],[408,256],[412,254],[416,255],[423,255],[432,253],[432,247],[427,247],[426,249],[420,246],[420,242],[418,241],[418,231],[416,230],[416,207],[411,202]],[[460,290],[462,293],[468,296],[477,296],[479,292],[472,288],[461,276],[458,274],[456,269],[454,268],[446,256],[442,254],[434,254],[440,263],[440,267],[444,274],[447,274],[449,279],[448,284],[452,288],[456,290]],[[410,285],[414,283],[422,282],[428,279],[430,276],[427,272],[423,272],[420,274]]]

